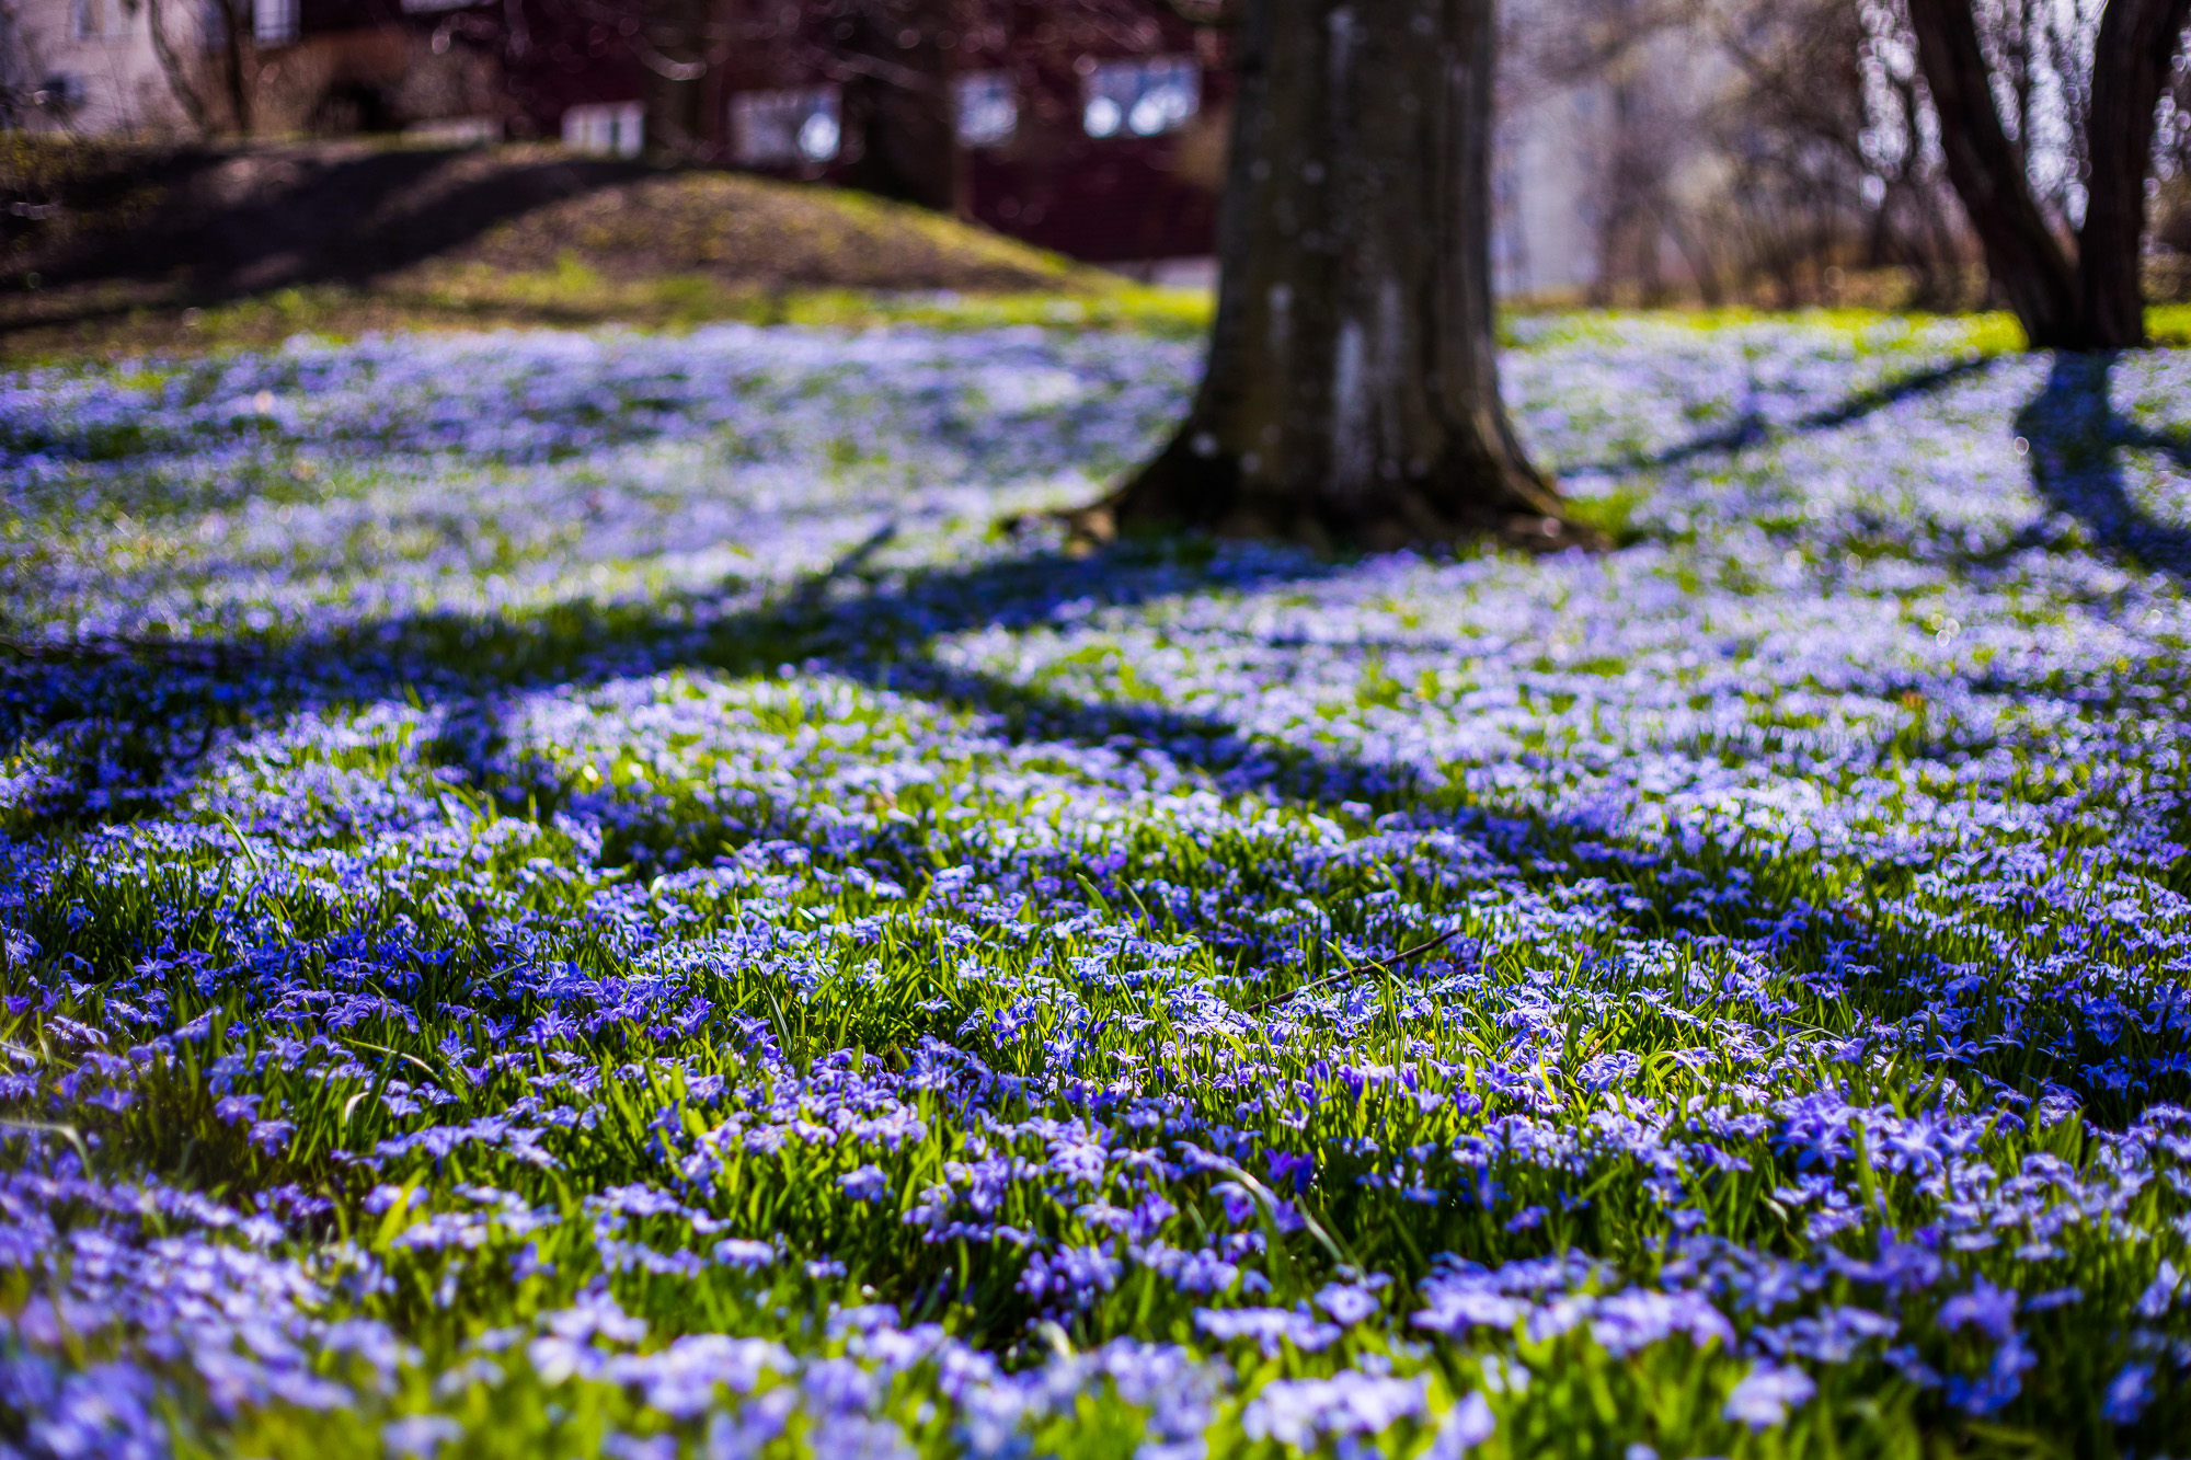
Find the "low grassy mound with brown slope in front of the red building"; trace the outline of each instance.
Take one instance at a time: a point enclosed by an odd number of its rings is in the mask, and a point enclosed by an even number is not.
[[[918,208],[537,145],[13,142],[0,208],[0,355],[13,357],[438,316],[741,318],[815,289],[1115,287]]]

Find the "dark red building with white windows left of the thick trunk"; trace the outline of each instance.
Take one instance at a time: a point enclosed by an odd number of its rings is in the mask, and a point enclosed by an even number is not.
[[[894,13],[887,4],[870,13]],[[1117,263],[1207,254],[1229,127],[1225,33],[1155,0],[898,7],[719,0],[690,68],[677,151],[909,197],[1060,252]],[[598,0],[535,0],[508,88],[513,132],[638,151],[666,68]],[[649,57],[659,59],[659,57]]]

